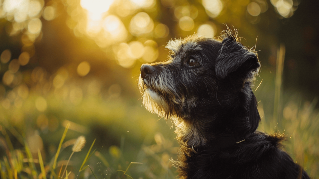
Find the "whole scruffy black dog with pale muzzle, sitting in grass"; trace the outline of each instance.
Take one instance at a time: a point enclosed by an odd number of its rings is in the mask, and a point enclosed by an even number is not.
[[[218,40],[193,35],[167,48],[168,61],[142,65],[139,87],[145,108],[176,126],[181,178],[309,178],[283,151],[283,135],[256,131],[251,84],[260,63],[237,31],[228,28]]]

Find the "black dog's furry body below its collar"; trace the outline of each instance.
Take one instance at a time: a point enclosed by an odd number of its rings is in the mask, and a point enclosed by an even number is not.
[[[182,147],[181,178],[307,179],[307,173],[281,149],[282,135],[256,131],[245,142],[226,149],[207,146],[194,152]]]

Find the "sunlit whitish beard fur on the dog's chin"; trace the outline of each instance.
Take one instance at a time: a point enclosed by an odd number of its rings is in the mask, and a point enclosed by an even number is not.
[[[160,117],[167,118],[167,102],[152,89],[148,88],[145,90],[143,95],[143,105],[148,111],[155,113]]]

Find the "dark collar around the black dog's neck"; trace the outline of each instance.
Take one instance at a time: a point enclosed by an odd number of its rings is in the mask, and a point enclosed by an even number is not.
[[[248,134],[242,134],[238,132],[233,132],[231,134],[223,134],[218,136],[217,138],[211,140],[207,147],[197,147],[197,146],[191,146],[191,149],[194,153],[200,153],[203,150],[223,150],[235,145],[238,145],[241,142],[245,142],[246,139],[251,135],[252,133]]]

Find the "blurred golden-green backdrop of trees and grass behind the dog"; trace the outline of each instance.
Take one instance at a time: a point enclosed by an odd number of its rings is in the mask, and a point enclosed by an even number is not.
[[[174,178],[174,126],[142,106],[140,66],[166,60],[170,39],[218,37],[226,25],[262,63],[253,86],[259,130],[285,133],[287,152],[318,178],[318,4],[0,0],[1,178],[61,177],[81,135],[87,144],[71,158],[68,178]]]

